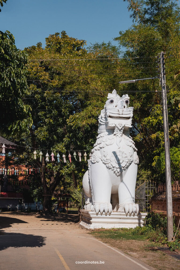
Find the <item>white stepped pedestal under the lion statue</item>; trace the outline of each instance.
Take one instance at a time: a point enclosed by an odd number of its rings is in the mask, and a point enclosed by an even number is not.
[[[125,215],[124,212],[112,212],[111,215],[103,212],[96,215],[95,211],[80,210],[82,219],[80,222],[80,227],[87,230],[99,229],[99,228],[135,228],[137,226],[142,227],[144,224],[144,218],[147,213],[140,213],[138,216],[135,214]]]

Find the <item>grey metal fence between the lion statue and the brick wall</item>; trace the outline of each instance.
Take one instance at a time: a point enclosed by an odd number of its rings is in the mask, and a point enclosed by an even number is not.
[[[140,205],[140,211],[150,211],[150,198],[157,192],[154,181],[144,181],[135,189],[135,203]]]

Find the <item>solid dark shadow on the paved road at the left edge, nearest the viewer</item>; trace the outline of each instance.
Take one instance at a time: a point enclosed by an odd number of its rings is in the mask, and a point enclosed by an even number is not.
[[[21,248],[21,247],[42,247],[45,244],[46,237],[33,234],[21,234],[21,233],[6,233],[1,231],[0,234],[0,251],[9,247]]]

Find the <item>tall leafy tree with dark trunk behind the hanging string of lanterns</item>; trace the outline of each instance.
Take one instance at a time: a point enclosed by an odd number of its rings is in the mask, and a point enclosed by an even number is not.
[[[55,33],[46,38],[46,47],[42,48],[42,43],[36,46],[26,48],[30,59],[47,59],[44,61],[29,61],[29,95],[26,96],[25,102],[32,108],[33,126],[30,128],[30,136],[24,137],[24,143],[30,147],[41,148],[43,152],[42,163],[39,160],[39,152],[37,150],[37,159],[33,160],[32,155],[26,152],[26,160],[29,166],[40,167],[40,177],[43,187],[43,210],[50,211],[50,201],[57,185],[64,183],[64,176],[66,179],[73,176],[74,186],[77,187],[77,176],[74,163],[70,164],[67,161],[64,164],[62,154],[68,150],[79,150],[76,137],[73,137],[73,132],[70,135],[67,125],[67,119],[79,109],[76,101],[73,102],[70,95],[65,95],[67,90],[66,84],[63,82],[63,72],[66,70],[63,65],[58,66],[58,61],[55,59],[77,58],[86,53],[83,49],[85,45],[84,40],[77,40],[70,38],[64,31]],[[52,59],[52,60],[48,60]],[[63,70],[61,69],[63,66]],[[64,76],[65,77],[65,76]],[[68,82],[69,83],[69,82]],[[64,92],[62,91],[64,89]],[[79,141],[83,137],[83,132],[79,134]],[[72,140],[72,141],[70,141]],[[60,163],[47,163],[45,155],[48,149],[49,155],[51,150],[56,155],[60,154]],[[84,149],[84,147],[82,148]],[[73,152],[71,151],[72,159]],[[82,162],[83,163],[83,162]],[[84,164],[85,165],[85,164]],[[45,166],[48,171],[45,171]],[[87,167],[87,165],[85,165]]]

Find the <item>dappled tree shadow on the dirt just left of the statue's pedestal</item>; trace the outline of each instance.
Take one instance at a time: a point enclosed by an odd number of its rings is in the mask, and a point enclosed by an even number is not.
[[[59,213],[59,214],[48,214],[48,215],[36,215],[36,218],[41,218],[41,221],[57,221],[63,223],[78,223],[79,216],[77,214],[66,214],[66,213]]]

